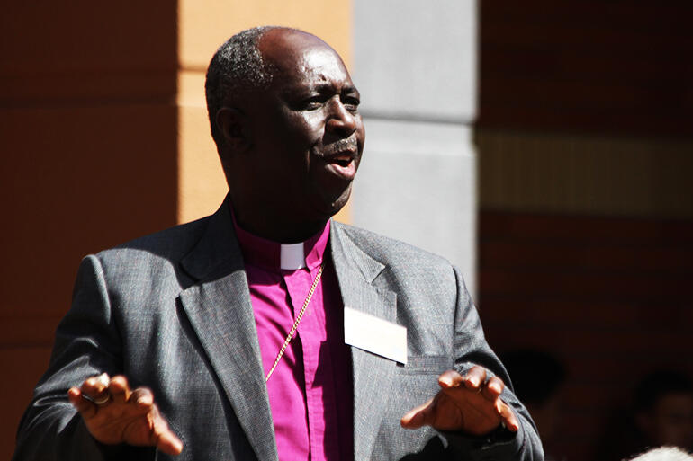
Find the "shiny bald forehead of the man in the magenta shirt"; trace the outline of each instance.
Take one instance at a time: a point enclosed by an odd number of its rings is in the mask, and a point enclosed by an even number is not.
[[[277,83],[348,84],[351,77],[334,49],[319,38],[290,30],[268,31],[259,43],[263,58],[275,66]]]

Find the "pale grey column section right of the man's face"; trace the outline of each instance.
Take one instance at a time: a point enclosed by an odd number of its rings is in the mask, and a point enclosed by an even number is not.
[[[354,1],[365,156],[352,221],[444,255],[474,291],[477,3]]]

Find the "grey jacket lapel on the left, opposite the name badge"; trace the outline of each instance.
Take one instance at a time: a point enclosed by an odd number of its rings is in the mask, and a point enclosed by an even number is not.
[[[276,460],[255,316],[228,200],[182,263],[200,281],[181,292],[181,305],[257,458]]]

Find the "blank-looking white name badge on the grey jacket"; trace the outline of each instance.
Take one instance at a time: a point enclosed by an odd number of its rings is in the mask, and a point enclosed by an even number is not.
[[[407,328],[347,306],[344,341],[386,359],[407,363]]]

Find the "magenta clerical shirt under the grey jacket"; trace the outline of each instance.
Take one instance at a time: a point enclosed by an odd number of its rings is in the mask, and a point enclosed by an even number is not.
[[[249,234],[235,220],[234,226],[245,260],[265,374],[272,368],[320,264],[325,265],[298,332],[267,382],[279,459],[353,460],[351,358],[344,343],[344,309],[337,277],[326,252],[329,222],[303,243],[305,257],[298,264],[305,266],[302,269],[295,269],[295,251],[293,269],[282,269],[281,244]]]

